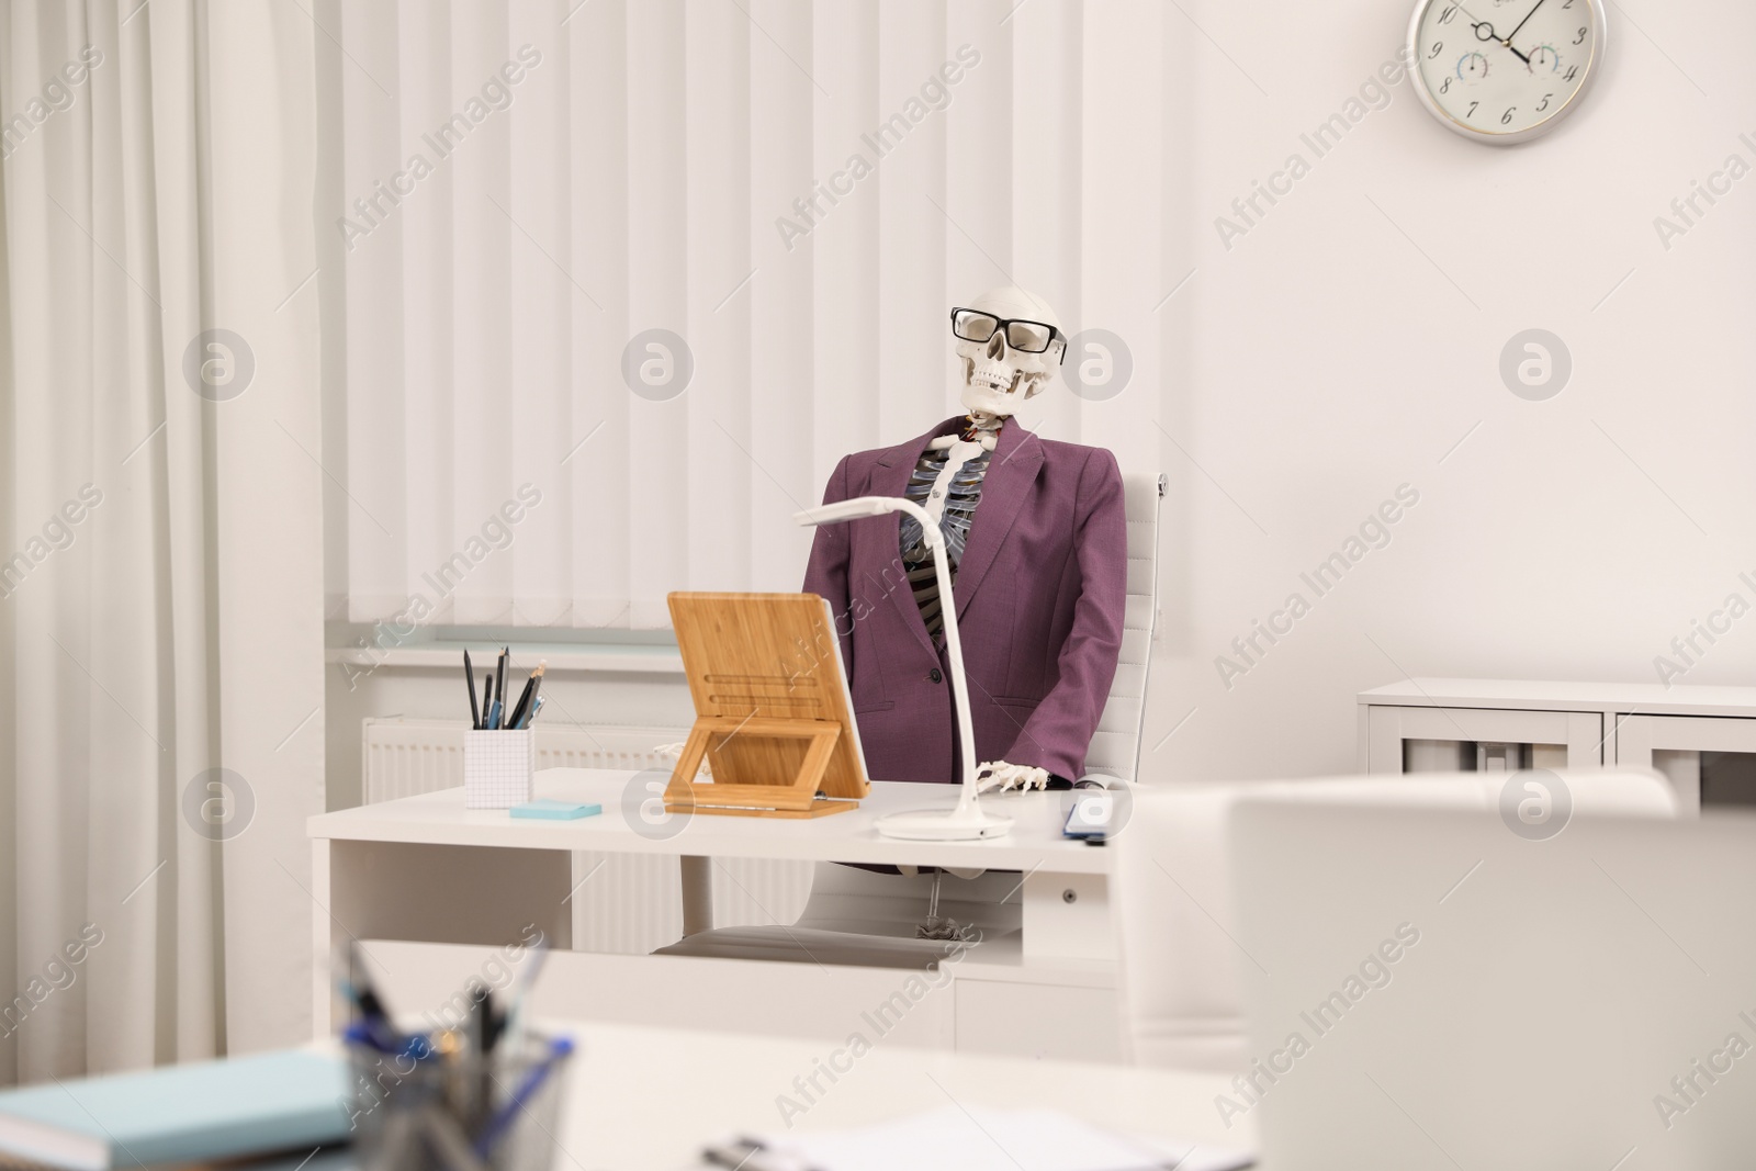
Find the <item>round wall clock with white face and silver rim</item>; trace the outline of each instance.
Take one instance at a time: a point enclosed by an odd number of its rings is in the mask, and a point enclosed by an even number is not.
[[[1603,0],[1421,0],[1421,100],[1482,142],[1522,142],[1579,105],[1603,60]]]

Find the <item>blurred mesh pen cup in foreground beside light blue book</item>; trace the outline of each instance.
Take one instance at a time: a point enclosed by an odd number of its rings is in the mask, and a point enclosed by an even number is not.
[[[358,1171],[551,1171],[572,1041],[527,1034],[488,1060],[446,1038],[348,1043]]]

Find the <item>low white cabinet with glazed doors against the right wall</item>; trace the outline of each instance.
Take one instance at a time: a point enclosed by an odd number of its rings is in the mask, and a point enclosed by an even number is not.
[[[1405,679],[1359,693],[1359,767],[1654,769],[1691,813],[1756,806],[1756,688]]]

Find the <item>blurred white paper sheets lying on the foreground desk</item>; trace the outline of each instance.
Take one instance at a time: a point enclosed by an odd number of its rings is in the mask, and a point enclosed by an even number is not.
[[[969,1110],[850,1131],[760,1136],[776,1166],[811,1171],[1238,1171],[1243,1152],[1134,1139],[1052,1110]]]

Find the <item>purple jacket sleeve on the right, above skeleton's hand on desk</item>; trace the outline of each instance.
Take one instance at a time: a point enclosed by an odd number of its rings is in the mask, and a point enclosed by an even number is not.
[[[1055,686],[1026,720],[1010,764],[1034,765],[1069,781],[1080,779],[1085,750],[1103,716],[1122,653],[1127,607],[1127,509],[1122,471],[1098,448],[1080,471],[1073,518],[1073,555],[1080,599],[1073,627],[1061,644]]]

